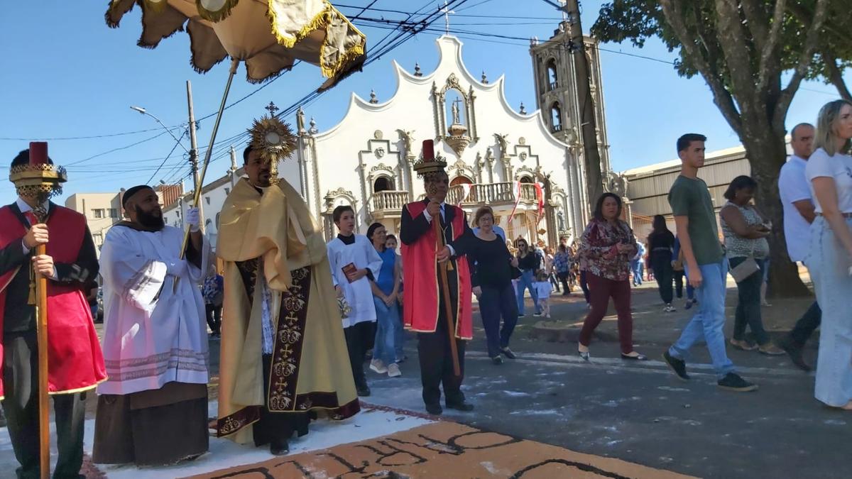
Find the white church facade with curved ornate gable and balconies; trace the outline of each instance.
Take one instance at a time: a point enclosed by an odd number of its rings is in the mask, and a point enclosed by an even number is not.
[[[306,124],[309,112],[297,113],[296,152],[279,164],[279,176],[302,193],[326,237],[337,234],[331,221],[337,205],[353,206],[361,234],[371,222],[398,233],[402,206],[424,197],[413,164],[427,139],[435,141],[435,153],[447,163],[447,202],[469,213],[491,205],[512,239],[556,245],[563,236],[582,233],[590,214],[582,146],[538,111],[510,107],[504,77],[493,83],[484,74],[475,78],[464,66],[458,38],[444,35],[435,43],[440,60],[433,72],[419,66],[408,72],[394,61],[397,89],[389,100],[353,93],[347,113],[329,130],[318,130],[313,120]],[[571,116],[565,113],[569,127]],[[202,191],[211,240],[217,213],[239,176],[240,153],[238,148],[233,155],[231,172]],[[164,209],[167,223],[181,224],[188,201],[182,203]]]

